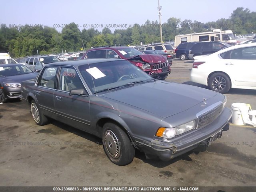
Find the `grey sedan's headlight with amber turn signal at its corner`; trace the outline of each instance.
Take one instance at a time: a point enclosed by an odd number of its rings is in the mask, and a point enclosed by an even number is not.
[[[175,128],[165,128],[160,127],[158,131],[156,132],[156,136],[163,137],[163,138],[173,138],[176,135],[180,135],[184,132],[193,130],[196,128],[196,121],[192,120],[188,123],[182,124],[180,126],[177,126]]]

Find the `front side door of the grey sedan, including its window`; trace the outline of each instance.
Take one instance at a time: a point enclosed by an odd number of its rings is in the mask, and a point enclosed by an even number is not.
[[[90,130],[89,96],[69,95],[70,90],[85,89],[75,68],[62,66],[54,92],[57,119],[76,128]]]

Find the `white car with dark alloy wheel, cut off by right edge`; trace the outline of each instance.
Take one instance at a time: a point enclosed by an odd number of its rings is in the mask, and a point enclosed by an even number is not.
[[[192,82],[222,94],[230,88],[256,89],[256,43],[230,46],[194,59]]]

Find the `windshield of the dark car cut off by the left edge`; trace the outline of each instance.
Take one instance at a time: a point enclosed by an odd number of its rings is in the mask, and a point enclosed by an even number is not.
[[[12,65],[6,67],[0,67],[0,77],[2,76],[13,76],[33,73],[29,68],[24,65]]]

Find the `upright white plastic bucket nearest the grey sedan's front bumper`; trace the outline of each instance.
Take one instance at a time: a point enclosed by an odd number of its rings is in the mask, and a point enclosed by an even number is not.
[[[246,125],[242,114],[244,116],[248,115],[249,106],[246,103],[233,103],[231,109],[233,111],[232,123],[235,125]]]

